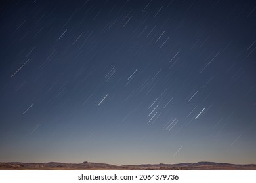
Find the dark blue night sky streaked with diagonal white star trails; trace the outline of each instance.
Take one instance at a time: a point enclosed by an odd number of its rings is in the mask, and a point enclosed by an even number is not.
[[[1,1],[0,161],[256,163],[255,1]]]

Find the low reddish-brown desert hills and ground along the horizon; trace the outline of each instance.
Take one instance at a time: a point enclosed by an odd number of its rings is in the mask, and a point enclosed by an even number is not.
[[[179,164],[144,164],[144,165],[110,165],[105,163],[0,163],[0,170],[251,170],[256,169],[256,164],[236,165],[229,163],[198,162]]]

